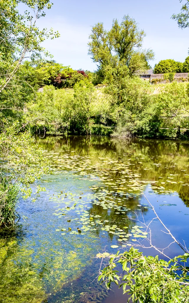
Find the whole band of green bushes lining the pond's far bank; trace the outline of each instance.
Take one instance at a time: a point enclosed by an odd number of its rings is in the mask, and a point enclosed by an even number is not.
[[[130,77],[126,65],[118,68],[107,67],[108,84],[96,88],[87,78],[77,82],[74,89],[44,86],[35,102],[27,105],[29,116],[33,112],[40,116],[40,121],[30,123],[32,133],[174,138],[176,132],[177,138],[187,138],[181,130],[189,127],[185,118],[189,110],[187,84],[160,84],[158,94],[153,94],[155,86],[137,76]],[[165,78],[170,81],[171,76],[174,74]],[[106,132],[94,124],[115,129]],[[169,131],[163,130],[166,128]]]

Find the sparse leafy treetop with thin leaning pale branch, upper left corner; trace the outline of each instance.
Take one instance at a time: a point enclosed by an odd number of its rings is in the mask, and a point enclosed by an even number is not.
[[[17,9],[19,3],[27,5],[28,10],[20,15]],[[44,51],[41,42],[45,38],[58,37],[59,33],[49,32],[46,28],[40,30],[37,20],[45,16],[44,8],[50,9],[49,0],[0,0],[0,93],[15,77],[25,58],[41,58]]]

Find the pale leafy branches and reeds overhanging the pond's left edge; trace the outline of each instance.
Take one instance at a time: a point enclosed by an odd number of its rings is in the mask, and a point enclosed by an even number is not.
[[[31,196],[30,184],[36,188],[36,197],[44,190],[35,181],[49,172],[48,161],[31,134],[19,132],[19,122],[6,120],[1,125],[0,155],[0,225],[14,225],[18,193],[23,198]]]

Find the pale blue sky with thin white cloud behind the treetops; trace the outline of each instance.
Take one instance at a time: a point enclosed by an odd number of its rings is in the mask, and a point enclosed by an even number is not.
[[[188,55],[189,28],[182,30],[171,19],[172,14],[180,12],[179,0],[54,0],[53,3],[40,26],[52,27],[61,36],[43,45],[54,55],[54,60],[74,69],[96,69],[87,55],[91,25],[103,22],[104,27],[110,29],[113,18],[121,21],[127,14],[146,32],[143,48],[154,50],[152,66],[163,59],[184,62]]]

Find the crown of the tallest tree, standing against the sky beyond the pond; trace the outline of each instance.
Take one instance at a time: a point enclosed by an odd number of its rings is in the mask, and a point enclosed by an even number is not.
[[[151,50],[141,51],[144,37],[144,31],[139,30],[135,20],[128,15],[123,17],[121,24],[117,19],[113,20],[109,32],[104,29],[103,23],[97,23],[89,37],[89,55],[93,62],[99,64],[103,74],[106,66],[116,68],[119,62],[126,65],[133,74],[138,69],[146,69],[147,61],[154,57]]]

